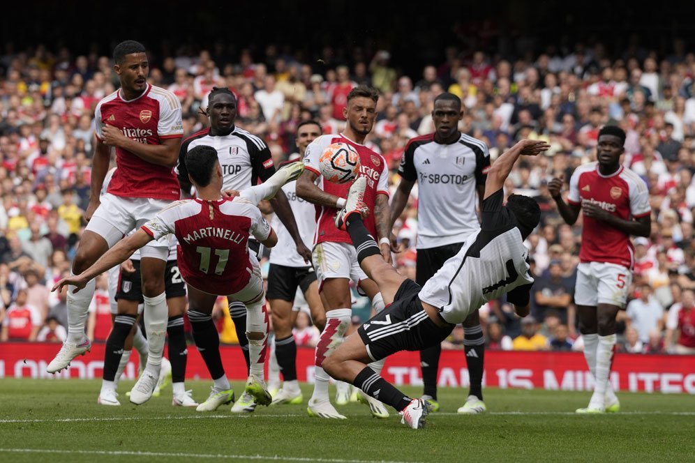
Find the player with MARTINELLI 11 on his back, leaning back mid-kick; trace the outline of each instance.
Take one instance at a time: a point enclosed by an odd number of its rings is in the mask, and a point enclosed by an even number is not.
[[[241,192],[239,197],[223,197],[222,167],[216,149],[196,146],[186,154],[190,181],[197,189],[196,199],[174,202],[163,208],[137,232],[119,241],[80,275],[65,278],[53,287],[74,285],[75,292],[96,275],[120,264],[135,250],[152,240],[173,234],[179,240],[179,269],[200,298],[207,294],[211,304],[217,296],[237,298],[246,305],[246,336],[251,368],[246,393],[256,404],[268,405],[263,365],[267,352],[268,314],[260,266],[248,252],[248,238],[273,247],[277,236],[256,204],[269,199],[288,181],[297,179],[304,165],[294,162],[278,170],[265,183]]]

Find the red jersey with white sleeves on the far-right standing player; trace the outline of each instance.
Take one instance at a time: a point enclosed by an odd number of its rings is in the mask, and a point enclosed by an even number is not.
[[[598,162],[577,167],[569,181],[567,199],[570,204],[597,204],[623,220],[651,213],[646,183],[624,166],[609,176],[599,173]],[[583,220],[579,251],[582,262],[607,262],[632,268],[634,248],[627,233],[585,215]]]

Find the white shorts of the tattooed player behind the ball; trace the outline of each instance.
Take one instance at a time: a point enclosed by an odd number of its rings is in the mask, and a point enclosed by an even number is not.
[[[328,278],[347,278],[357,286],[367,274],[357,263],[357,251],[347,243],[318,243],[311,253],[319,289]]]

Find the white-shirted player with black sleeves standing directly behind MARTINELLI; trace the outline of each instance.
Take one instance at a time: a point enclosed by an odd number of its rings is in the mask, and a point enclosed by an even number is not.
[[[217,150],[218,159],[222,166],[224,176],[224,190],[243,190],[249,186],[255,185],[258,181],[267,181],[271,175],[275,173],[273,160],[271,159],[270,150],[262,139],[255,135],[234,126],[234,119],[237,117],[237,98],[226,87],[214,87],[208,98],[208,106],[206,109],[207,115],[210,118],[210,127],[200,130],[190,137],[186,138],[181,144],[179,153],[179,182],[184,192],[190,190],[190,181],[188,181],[188,172],[186,171],[186,163],[184,159],[186,153],[196,146],[212,146]],[[278,218],[287,227],[294,240],[294,246],[297,253],[305,259],[311,260],[311,251],[306,248],[304,242],[299,236],[297,223],[292,215],[290,204],[287,203],[285,193],[279,191],[278,194],[271,199],[271,206],[278,215]],[[249,242],[249,248],[255,252],[257,258],[260,259],[260,243],[255,240]],[[246,306],[240,301],[230,299],[229,310],[234,328],[237,331],[237,339],[239,346],[244,354],[246,366],[249,367],[250,360],[248,356],[248,340],[244,335],[246,327]],[[195,307],[195,304],[193,305]],[[216,333],[214,323],[208,315],[201,315],[197,311],[188,312],[188,319],[193,328],[193,340],[197,347],[202,347],[206,344],[200,353],[206,358],[206,364],[209,367],[213,378],[217,378],[216,386],[209,397],[215,404],[220,402],[223,397],[229,399],[233,392],[229,384],[225,384],[225,379],[218,375],[223,374],[221,360],[218,360],[219,354],[214,354],[214,351],[219,350],[219,345],[207,345],[210,342],[213,333]],[[218,395],[217,397],[214,397]],[[207,405],[201,405],[202,409],[209,410],[212,402]],[[232,407],[235,413],[251,412],[254,410],[255,404],[248,395],[241,395],[239,400]]]

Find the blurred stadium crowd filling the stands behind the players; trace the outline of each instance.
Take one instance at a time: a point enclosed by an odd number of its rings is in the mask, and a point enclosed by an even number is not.
[[[678,313],[695,310],[695,54],[675,40],[668,56],[639,48],[608,56],[601,43],[516,59],[455,47],[446,56],[420,75],[399,75],[387,50],[371,59],[320,63],[297,61],[276,47],[264,56],[244,50],[234,59],[200,50],[152,61],[149,80],[181,101],[184,137],[207,126],[200,109],[209,91],[232,89],[237,125],[266,140],[276,165],[297,152],[300,121],[315,119],[324,133],[339,132],[350,89],[374,86],[381,98],[368,144],[389,162],[392,189],[405,145],[433,131],[433,99],[444,91],[461,98],[461,131],[483,140],[493,160],[518,139],[551,144],[546,155],[521,162],[505,190],[541,205],[541,224],[526,243],[537,278],[532,316],[518,319],[504,301],[484,306],[488,349],[581,350],[572,295],[581,219],[565,224],[547,183],[558,176],[569,181],[578,165],[593,160],[599,128],[618,124],[627,132],[622,162],[648,184],[652,206],[650,238],[634,239],[620,348],[694,354],[695,333],[681,329]],[[65,294],[48,288],[69,273],[84,229],[94,107],[118,78],[107,56],[73,56],[44,45],[0,56],[0,69],[0,340],[62,341]],[[414,278],[417,186],[394,233],[406,249],[396,255],[398,270]],[[89,319],[96,340],[105,340],[111,326],[103,280]],[[222,340],[234,342],[226,304],[218,306]],[[298,339],[315,343],[310,321],[300,319]],[[462,339],[457,328],[444,347],[463,349]]]

